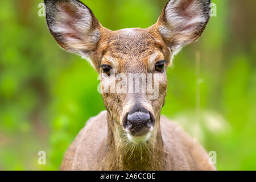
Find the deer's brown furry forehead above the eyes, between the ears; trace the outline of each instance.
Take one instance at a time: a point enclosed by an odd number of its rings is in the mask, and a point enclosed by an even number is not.
[[[126,28],[112,33],[101,64],[111,64],[114,68],[142,66],[151,69],[159,59],[164,59],[162,46],[147,30]]]

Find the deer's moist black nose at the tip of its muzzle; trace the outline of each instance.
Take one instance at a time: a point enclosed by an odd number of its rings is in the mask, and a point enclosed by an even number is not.
[[[123,127],[132,135],[141,136],[154,127],[154,117],[146,109],[132,110],[123,119]]]

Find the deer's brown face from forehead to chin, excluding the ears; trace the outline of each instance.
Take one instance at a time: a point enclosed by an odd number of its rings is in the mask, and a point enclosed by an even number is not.
[[[149,136],[155,122],[159,122],[167,92],[170,48],[149,30],[131,28],[112,32],[104,53],[99,70],[105,73],[101,85],[103,88],[115,85],[114,92],[111,88],[107,93],[102,92],[106,109],[131,140]],[[154,84],[156,75],[158,83]],[[147,86],[152,86],[154,92]]]

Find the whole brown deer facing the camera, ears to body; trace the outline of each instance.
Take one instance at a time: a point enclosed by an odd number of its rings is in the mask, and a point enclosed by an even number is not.
[[[111,31],[77,0],[44,0],[49,31],[68,52],[102,73],[159,76],[159,94],[102,93],[106,107],[89,119],[64,156],[63,170],[215,170],[204,148],[160,116],[167,93],[166,69],[180,49],[195,42],[209,20],[210,0],[171,0],[149,28]],[[115,74],[114,73],[114,74]],[[135,85],[129,85],[135,87]]]

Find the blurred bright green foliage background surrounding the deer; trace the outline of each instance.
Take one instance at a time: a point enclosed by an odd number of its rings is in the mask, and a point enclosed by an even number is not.
[[[118,30],[151,26],[167,0],[82,2]],[[256,1],[213,2],[217,16],[168,70],[162,113],[216,151],[217,169],[255,170]],[[59,169],[85,122],[104,110],[96,71],[57,46],[39,3],[0,1],[0,170]]]

